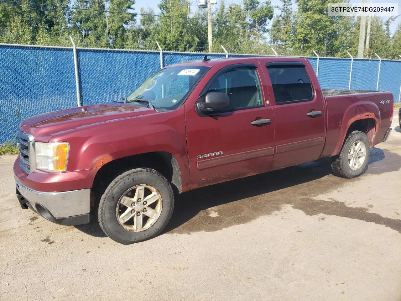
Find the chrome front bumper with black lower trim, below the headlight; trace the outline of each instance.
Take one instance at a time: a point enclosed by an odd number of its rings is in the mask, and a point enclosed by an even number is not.
[[[15,180],[22,209],[30,208],[43,218],[61,225],[89,223],[91,189],[62,192],[35,191]]]

